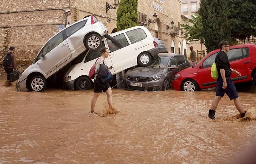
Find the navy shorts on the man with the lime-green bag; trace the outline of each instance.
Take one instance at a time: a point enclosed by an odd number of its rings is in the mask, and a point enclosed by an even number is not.
[[[226,93],[230,100],[238,98],[238,94],[232,79],[230,79],[229,77],[226,77],[226,81],[227,81],[227,88],[222,89],[223,79],[221,76],[219,76],[219,78],[217,79],[216,96],[223,97],[224,94]]]

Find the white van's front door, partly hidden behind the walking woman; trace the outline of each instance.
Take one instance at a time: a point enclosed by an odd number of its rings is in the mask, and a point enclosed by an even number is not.
[[[106,40],[105,39],[102,41],[102,46],[101,47],[106,47]],[[86,70],[87,70],[87,75],[88,75],[91,67],[95,64],[96,60],[99,57],[101,57],[100,50],[88,50],[88,52],[87,52],[87,54],[84,58],[84,64],[85,64],[85,67],[86,67]],[[107,57],[105,59],[105,61],[106,61],[106,65],[108,67],[113,66],[112,61],[110,59],[110,56]],[[114,68],[114,66],[113,66],[113,68]],[[113,73],[113,68],[111,69],[111,73]]]

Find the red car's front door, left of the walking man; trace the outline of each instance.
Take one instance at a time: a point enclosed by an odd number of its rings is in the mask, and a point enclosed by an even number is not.
[[[217,54],[218,52],[208,56],[203,62],[199,63],[197,77],[202,86],[212,85],[213,87],[216,84],[216,80],[211,77],[211,66],[214,63]]]

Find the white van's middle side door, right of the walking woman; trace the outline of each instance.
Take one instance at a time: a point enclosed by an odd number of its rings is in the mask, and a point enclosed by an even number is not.
[[[111,40],[107,39],[107,46],[110,51],[109,56],[113,64],[113,70],[111,70],[111,72],[118,73],[126,68],[136,65],[131,62],[133,61],[133,58],[136,58],[137,60],[137,57],[134,56],[132,50],[130,49],[130,44],[126,39],[125,34],[121,33],[113,36],[113,38],[117,39],[122,44],[122,48],[119,48]]]

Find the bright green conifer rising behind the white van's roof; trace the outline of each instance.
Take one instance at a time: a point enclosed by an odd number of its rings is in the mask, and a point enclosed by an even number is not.
[[[138,26],[138,0],[121,0],[117,10],[117,30]]]

